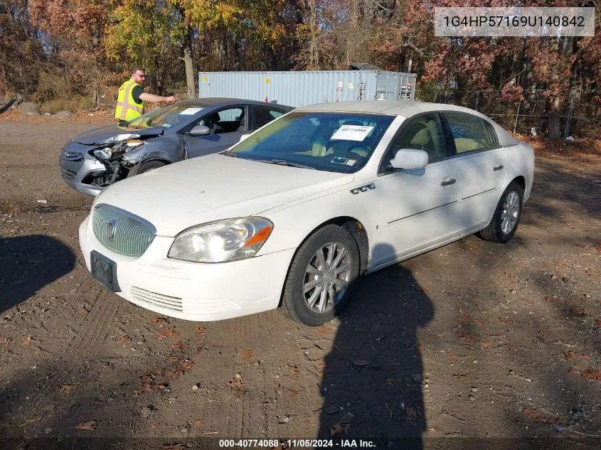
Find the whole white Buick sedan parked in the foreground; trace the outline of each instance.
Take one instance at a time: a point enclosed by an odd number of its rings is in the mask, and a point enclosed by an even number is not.
[[[488,117],[419,102],[302,107],[228,151],[102,192],[87,268],[124,299],[213,321],[334,318],[362,274],[462,237],[507,242],[534,154]]]

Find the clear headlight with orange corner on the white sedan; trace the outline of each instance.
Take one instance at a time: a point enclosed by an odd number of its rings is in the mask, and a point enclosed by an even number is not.
[[[273,230],[265,218],[220,220],[181,232],[169,258],[190,262],[228,262],[252,258]]]

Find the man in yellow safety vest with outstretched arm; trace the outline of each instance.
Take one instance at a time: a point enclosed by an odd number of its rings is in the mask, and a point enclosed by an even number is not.
[[[132,77],[119,87],[117,107],[115,108],[115,118],[119,119],[119,125],[144,114],[144,102],[173,103],[176,101],[173,95],[163,97],[144,92],[142,87],[144,80],[146,80],[144,69],[136,66],[132,68]]]

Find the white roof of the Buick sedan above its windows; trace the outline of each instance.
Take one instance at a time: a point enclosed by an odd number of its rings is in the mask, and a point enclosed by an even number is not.
[[[464,108],[456,105],[445,105],[444,103],[428,103],[428,102],[408,102],[407,100],[370,100],[358,102],[332,102],[332,103],[317,103],[316,105],[307,105],[296,109],[296,111],[319,111],[319,112],[353,112],[366,114],[389,114],[395,116],[412,117],[415,114],[430,111],[455,111],[466,112],[477,117],[482,117],[491,125],[493,125],[499,144],[501,146],[513,146],[518,144],[518,141],[506,132],[493,119],[481,114],[474,109]]]

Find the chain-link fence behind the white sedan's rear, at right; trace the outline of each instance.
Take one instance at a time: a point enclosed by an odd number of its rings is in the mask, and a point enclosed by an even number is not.
[[[501,127],[520,134],[550,134],[592,138],[601,136],[601,95],[586,90],[562,92],[559,98],[570,99],[554,105],[543,90],[524,90],[523,100],[506,100],[500,90],[420,90],[415,100],[445,103],[475,109],[494,119]],[[552,133],[551,133],[552,134]]]

